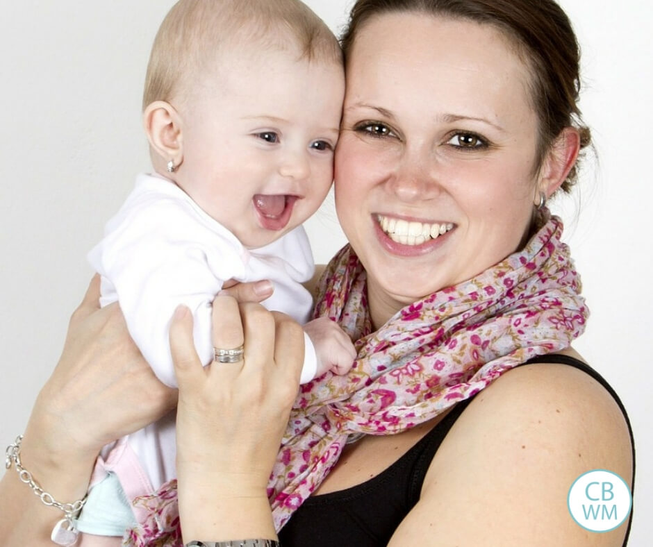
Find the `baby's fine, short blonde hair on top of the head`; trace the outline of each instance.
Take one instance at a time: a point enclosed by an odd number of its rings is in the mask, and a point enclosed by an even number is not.
[[[143,109],[183,93],[183,86],[213,69],[209,62],[217,54],[237,52],[243,43],[262,51],[299,50],[297,60],[342,62],[338,39],[299,0],[180,0],[154,39]]]

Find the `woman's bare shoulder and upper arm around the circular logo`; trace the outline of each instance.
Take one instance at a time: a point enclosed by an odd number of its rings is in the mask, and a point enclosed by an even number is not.
[[[588,532],[570,517],[567,495],[591,469],[630,482],[631,454],[624,416],[599,382],[554,360],[518,367],[458,418],[390,545],[426,537],[427,545],[620,546],[626,523]]]

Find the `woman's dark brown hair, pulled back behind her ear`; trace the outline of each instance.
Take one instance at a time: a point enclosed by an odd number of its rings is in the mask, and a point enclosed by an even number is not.
[[[531,99],[540,121],[538,162],[565,127],[580,133],[581,150],[591,142],[578,107],[580,51],[569,18],[553,0],[357,0],[340,43],[345,62],[356,35],[373,17],[384,13],[419,12],[489,24],[502,31],[531,68]],[[562,185],[576,182],[573,167]]]

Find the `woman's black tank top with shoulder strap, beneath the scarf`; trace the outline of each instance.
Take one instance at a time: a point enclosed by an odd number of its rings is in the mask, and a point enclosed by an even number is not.
[[[630,432],[635,482],[635,448],[628,415],[612,387],[584,362],[567,355],[543,355],[520,366],[556,362],[585,371],[607,389],[624,414]],[[472,398],[461,401],[415,446],[374,478],[352,488],[311,496],[279,532],[283,547],[386,546],[399,524],[418,503],[433,456]],[[628,542],[632,512],[624,546]]]

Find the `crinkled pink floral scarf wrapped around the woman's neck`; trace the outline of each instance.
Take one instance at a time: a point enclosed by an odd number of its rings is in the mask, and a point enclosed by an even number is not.
[[[322,483],[348,440],[433,419],[505,371],[560,351],[583,333],[588,310],[562,231],[561,220],[546,212],[522,251],[406,306],[376,332],[356,253],[347,245],[331,260],[315,317],[337,321],[358,356],[346,376],[327,373],[300,387],[268,487],[277,529]],[[126,545],[181,546],[176,508],[170,510],[174,489],[172,481],[138,501],[151,507],[141,528],[149,531],[131,531]],[[151,532],[156,528],[158,536]]]

